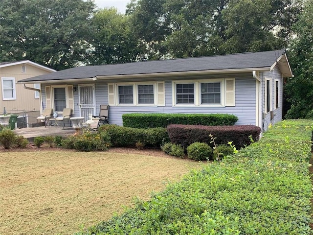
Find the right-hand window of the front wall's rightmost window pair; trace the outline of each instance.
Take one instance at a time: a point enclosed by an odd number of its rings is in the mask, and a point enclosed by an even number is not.
[[[221,83],[201,83],[201,104],[221,103]]]

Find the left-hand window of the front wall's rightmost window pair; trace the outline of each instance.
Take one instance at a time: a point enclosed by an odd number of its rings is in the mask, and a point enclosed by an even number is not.
[[[194,104],[195,103],[195,84],[176,84],[176,103]]]

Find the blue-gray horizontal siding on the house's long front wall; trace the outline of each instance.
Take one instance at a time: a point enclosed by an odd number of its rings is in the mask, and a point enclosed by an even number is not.
[[[256,85],[252,74],[236,74],[228,76],[212,76],[211,78],[235,78],[235,106],[233,107],[203,107],[203,106],[173,106],[172,102],[172,80],[165,80],[165,106],[110,106],[110,124],[122,125],[122,115],[130,113],[181,113],[181,114],[233,114],[239,120],[237,125],[255,125],[255,103]],[[200,80],[197,78],[187,78],[188,80]],[[205,77],[203,79],[208,79]],[[181,79],[177,79],[181,80]],[[160,81],[160,80],[158,80]],[[78,86],[83,84],[73,84]],[[45,105],[45,86],[43,86],[43,103]],[[79,96],[78,91],[74,92],[74,115],[79,117]],[[95,83],[95,105],[96,114],[99,114],[101,104],[108,104],[108,83],[97,81]]]

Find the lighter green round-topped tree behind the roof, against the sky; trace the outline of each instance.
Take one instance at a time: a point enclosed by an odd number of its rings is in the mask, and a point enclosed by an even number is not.
[[[130,16],[105,8],[93,16],[89,64],[125,63],[141,59],[142,48],[130,24]]]

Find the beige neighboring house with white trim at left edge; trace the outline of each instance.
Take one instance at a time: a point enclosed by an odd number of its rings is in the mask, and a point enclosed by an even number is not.
[[[55,70],[41,66],[29,60],[0,63],[0,114],[6,110],[40,110],[40,92],[25,90],[23,85],[16,83],[22,79],[43,74],[49,74]],[[28,85],[40,90],[40,83]]]

